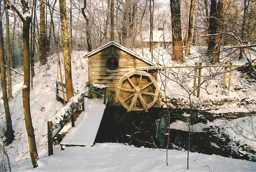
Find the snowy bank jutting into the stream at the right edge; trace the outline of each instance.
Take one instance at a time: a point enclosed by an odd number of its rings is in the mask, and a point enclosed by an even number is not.
[[[219,126],[220,132],[240,145],[247,144],[256,150],[256,116],[246,116],[225,121]]]

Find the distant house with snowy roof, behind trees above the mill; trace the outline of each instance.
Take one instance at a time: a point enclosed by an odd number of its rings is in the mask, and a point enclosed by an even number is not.
[[[142,41],[144,42],[144,47],[149,48],[150,46],[150,30],[142,32]],[[172,34],[169,30],[163,30],[163,28],[158,28],[153,30],[153,40],[152,46],[154,48],[162,49],[164,44],[166,47],[170,47],[172,43]]]

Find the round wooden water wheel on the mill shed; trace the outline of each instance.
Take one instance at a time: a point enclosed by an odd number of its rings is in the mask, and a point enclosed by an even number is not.
[[[117,97],[128,112],[144,110],[153,106],[158,97],[158,85],[155,78],[144,71],[131,71],[119,80]]]

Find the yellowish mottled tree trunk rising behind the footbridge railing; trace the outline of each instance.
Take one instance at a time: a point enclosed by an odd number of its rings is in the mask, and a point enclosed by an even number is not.
[[[64,55],[64,68],[65,68],[65,82],[67,101],[74,96],[72,84],[72,70],[71,70],[71,57],[68,42],[68,20],[66,15],[66,0],[59,0],[60,4],[60,22],[61,22],[61,35],[62,35],[62,51]]]

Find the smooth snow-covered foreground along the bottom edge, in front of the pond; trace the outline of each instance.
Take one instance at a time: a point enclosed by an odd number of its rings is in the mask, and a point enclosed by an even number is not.
[[[136,148],[117,143],[66,147],[65,150],[60,150],[58,146],[57,149],[50,157],[41,156],[35,169],[29,159],[24,159],[12,171],[209,172],[210,168],[213,172],[252,172],[256,168],[255,162],[190,152],[187,170],[187,152],[168,150],[169,166],[166,166],[164,149]]]

